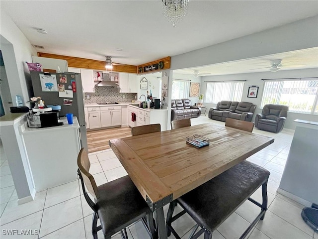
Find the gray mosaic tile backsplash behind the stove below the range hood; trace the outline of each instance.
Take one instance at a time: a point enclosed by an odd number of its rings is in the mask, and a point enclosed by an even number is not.
[[[87,95],[89,95],[89,99],[87,99]],[[95,93],[85,93],[85,104],[131,102],[136,100],[135,97],[137,99],[137,93],[118,93],[117,87],[95,86]]]

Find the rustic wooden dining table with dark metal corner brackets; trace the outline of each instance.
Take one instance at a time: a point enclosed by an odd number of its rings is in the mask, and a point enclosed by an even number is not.
[[[186,143],[198,134],[201,148]],[[163,206],[223,173],[274,142],[271,137],[220,126],[198,124],[109,140],[139,192],[156,212],[159,238],[166,239]]]

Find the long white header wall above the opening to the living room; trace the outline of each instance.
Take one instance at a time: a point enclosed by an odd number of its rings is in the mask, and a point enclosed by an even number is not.
[[[317,46],[318,16],[314,16],[172,56],[170,70],[248,59]]]

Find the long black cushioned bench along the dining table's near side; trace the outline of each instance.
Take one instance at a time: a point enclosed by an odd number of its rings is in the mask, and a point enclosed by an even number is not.
[[[224,173],[202,184],[196,189],[174,200],[169,205],[167,214],[167,234],[180,239],[171,223],[188,213],[198,224],[190,238],[197,239],[204,233],[204,239],[211,239],[215,231],[239,206],[249,200],[261,208],[256,219],[246,229],[240,239],[245,238],[259,220],[263,220],[267,210],[267,181],[270,172],[251,162],[243,161]],[[262,186],[262,204],[249,198]],[[172,217],[177,203],[184,209]],[[198,227],[201,230],[196,233]]]

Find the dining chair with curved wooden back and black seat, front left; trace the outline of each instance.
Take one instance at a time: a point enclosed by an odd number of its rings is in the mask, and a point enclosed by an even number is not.
[[[158,238],[153,212],[129,176],[97,186],[94,177],[88,172],[90,162],[84,148],[79,152],[78,167],[85,200],[94,211],[92,219],[93,239],[97,239],[99,230],[103,231],[105,239],[110,239],[118,232],[123,239],[128,239],[126,227],[138,220],[143,222],[151,239]],[[85,186],[94,202],[88,196]],[[100,226],[97,227],[98,219]]]

